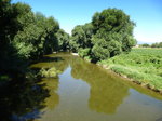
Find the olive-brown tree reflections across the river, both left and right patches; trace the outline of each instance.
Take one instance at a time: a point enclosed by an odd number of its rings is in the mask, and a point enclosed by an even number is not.
[[[60,56],[63,58],[60,58]],[[62,72],[70,65],[71,76],[75,79],[80,79],[89,83],[90,98],[89,107],[92,110],[104,113],[114,113],[118,106],[123,102],[124,97],[129,95],[129,86],[120,83],[116,78],[110,75],[105,73],[102,69],[97,68],[95,65],[84,62],[79,57],[75,57],[68,54],[52,54],[48,57],[59,58],[59,60],[54,62],[43,62],[32,65],[35,68],[50,68],[55,67]],[[52,92],[49,98],[46,98],[49,109],[51,105],[58,104],[58,95],[53,92],[57,89],[58,80],[45,79],[43,82],[46,83],[48,89]],[[111,92],[111,93],[110,93]],[[120,94],[119,94],[120,92]],[[51,102],[53,99],[53,103]]]

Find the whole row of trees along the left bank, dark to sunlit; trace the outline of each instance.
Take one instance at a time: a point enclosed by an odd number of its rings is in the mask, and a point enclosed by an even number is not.
[[[21,73],[32,60],[66,51],[69,35],[54,17],[33,13],[26,3],[0,1],[0,73]],[[0,76],[1,78],[3,76]]]

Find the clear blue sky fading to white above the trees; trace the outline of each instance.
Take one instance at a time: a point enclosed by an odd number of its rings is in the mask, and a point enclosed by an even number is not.
[[[162,42],[162,0],[12,0],[18,1],[28,3],[33,12],[53,16],[68,33],[75,26],[90,23],[95,12],[121,9],[136,23],[138,43]]]

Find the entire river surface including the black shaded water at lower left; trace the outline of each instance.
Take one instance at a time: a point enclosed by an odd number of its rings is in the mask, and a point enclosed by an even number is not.
[[[43,78],[38,82],[19,80],[18,84],[13,81],[0,89],[6,88],[0,98],[0,113],[5,117],[2,121],[11,118],[15,121],[153,121],[161,118],[162,104],[154,99],[160,98],[154,93],[134,84],[133,89],[140,93],[130,90],[132,85],[120,78],[70,54],[52,54],[45,59],[31,68],[55,67],[60,71],[58,78]]]

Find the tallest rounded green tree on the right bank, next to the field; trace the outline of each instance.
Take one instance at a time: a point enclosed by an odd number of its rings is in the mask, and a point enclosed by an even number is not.
[[[130,51],[136,43],[133,38],[135,24],[122,10],[107,9],[102,13],[95,13],[92,24],[94,62],[112,57],[122,51]]]

